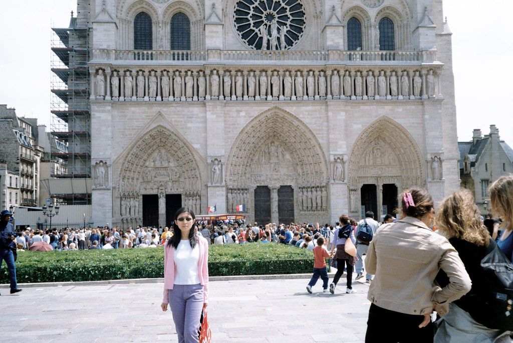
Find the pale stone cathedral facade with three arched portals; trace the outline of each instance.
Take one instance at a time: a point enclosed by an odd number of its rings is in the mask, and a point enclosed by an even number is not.
[[[459,187],[441,0],[78,1],[95,223],[334,223]],[[241,212],[238,212],[241,213]]]

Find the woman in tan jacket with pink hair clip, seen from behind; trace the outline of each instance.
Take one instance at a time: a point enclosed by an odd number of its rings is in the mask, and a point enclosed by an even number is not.
[[[369,244],[365,269],[375,274],[367,299],[371,305],[366,343],[433,341],[430,314],[442,315],[448,303],[470,290],[470,278],[447,238],[433,232],[431,195],[411,188],[400,196],[402,217],[382,225]],[[443,289],[434,283],[442,269]]]

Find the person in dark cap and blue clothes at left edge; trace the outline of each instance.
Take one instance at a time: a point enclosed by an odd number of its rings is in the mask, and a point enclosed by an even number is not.
[[[16,251],[16,244],[14,243],[14,226],[9,222],[11,216],[12,214],[8,209],[0,213],[0,264],[3,263],[3,260],[7,263],[9,281],[11,282],[11,294],[14,294],[21,291],[21,289],[18,289],[16,281],[16,265],[14,264],[13,253],[13,250]]]

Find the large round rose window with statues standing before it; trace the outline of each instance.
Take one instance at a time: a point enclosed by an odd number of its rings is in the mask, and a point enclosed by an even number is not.
[[[235,28],[257,50],[286,50],[305,30],[305,10],[298,0],[240,0],[235,5]]]

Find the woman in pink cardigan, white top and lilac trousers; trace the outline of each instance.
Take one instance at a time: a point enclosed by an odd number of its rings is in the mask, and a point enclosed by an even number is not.
[[[198,342],[202,309],[208,305],[208,243],[194,234],[194,213],[182,207],[174,215],[174,235],[164,247],[162,311],[171,304],[180,343]],[[183,237],[183,238],[182,238]]]

